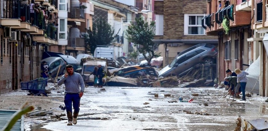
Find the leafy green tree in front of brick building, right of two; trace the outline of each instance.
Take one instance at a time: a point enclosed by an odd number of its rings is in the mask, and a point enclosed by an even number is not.
[[[139,53],[142,53],[144,58],[150,63],[151,59],[158,57],[159,53],[155,53],[158,44],[154,43],[155,23],[152,21],[148,23],[144,17],[135,18],[136,23],[131,22],[131,25],[126,30],[127,39],[138,47]],[[147,54],[147,56],[146,56]]]

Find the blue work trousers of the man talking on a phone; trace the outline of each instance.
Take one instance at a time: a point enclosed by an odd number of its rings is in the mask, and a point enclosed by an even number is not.
[[[74,113],[79,113],[80,110],[79,93],[66,93],[64,96],[64,104],[67,112],[72,112],[72,104],[73,104]]]

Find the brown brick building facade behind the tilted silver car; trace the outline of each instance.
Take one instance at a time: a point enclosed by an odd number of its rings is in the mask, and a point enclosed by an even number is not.
[[[206,0],[154,1],[155,37],[163,66],[168,65],[181,51],[198,43],[218,45],[218,37],[206,35],[202,18],[206,16]]]

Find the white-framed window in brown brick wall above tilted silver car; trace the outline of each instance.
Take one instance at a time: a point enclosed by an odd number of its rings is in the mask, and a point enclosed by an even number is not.
[[[202,18],[205,14],[184,14],[184,35],[205,35]]]

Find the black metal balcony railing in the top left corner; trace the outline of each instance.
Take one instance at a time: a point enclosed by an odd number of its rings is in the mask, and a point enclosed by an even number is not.
[[[21,18],[21,2],[19,0],[4,0],[3,1],[2,18]],[[24,11],[25,12],[25,11]]]

